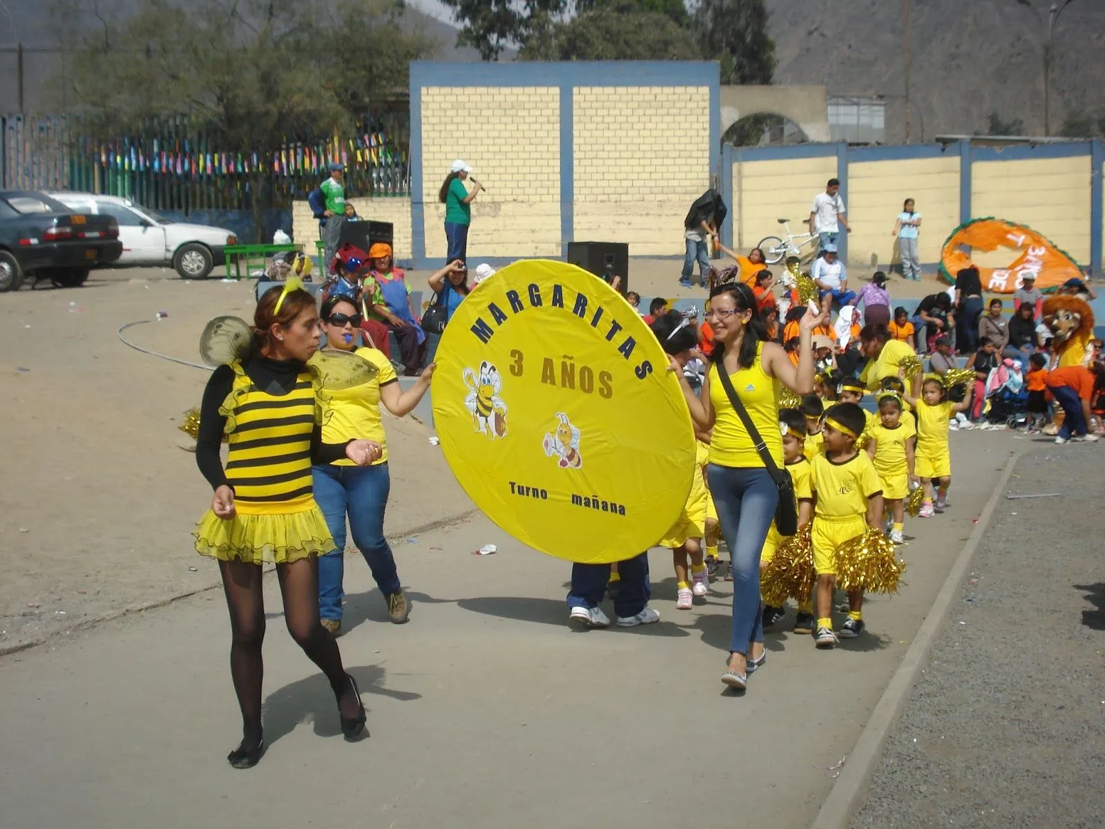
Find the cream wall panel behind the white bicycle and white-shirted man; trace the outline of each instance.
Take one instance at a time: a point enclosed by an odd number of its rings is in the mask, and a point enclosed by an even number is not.
[[[778,219],[789,219],[792,233],[809,231],[813,197],[824,192],[825,181],[836,175],[836,156],[744,161],[733,165],[733,242],[738,253],[748,253],[764,237],[785,238]],[[851,216],[849,201],[844,207]],[[849,219],[851,221],[851,218]],[[887,235],[890,228],[886,229]],[[802,255],[813,246],[802,248]]]

